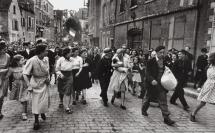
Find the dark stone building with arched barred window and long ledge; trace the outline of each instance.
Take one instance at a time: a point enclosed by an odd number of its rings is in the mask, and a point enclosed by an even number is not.
[[[197,11],[197,0],[120,0],[115,45],[178,50],[189,46],[194,53]]]

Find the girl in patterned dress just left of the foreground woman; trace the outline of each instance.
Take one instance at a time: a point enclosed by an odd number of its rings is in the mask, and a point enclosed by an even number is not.
[[[27,85],[23,78],[23,65],[25,63],[25,58],[22,55],[15,55],[12,59],[7,77],[13,76],[12,90],[10,92],[10,100],[20,101],[23,106],[22,120],[26,121],[27,117],[27,105],[30,95],[27,90]]]

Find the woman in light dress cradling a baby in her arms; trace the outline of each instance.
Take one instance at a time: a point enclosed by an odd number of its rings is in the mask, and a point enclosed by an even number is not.
[[[124,57],[124,50],[118,49],[116,54],[112,59],[112,67],[114,68],[113,75],[111,76],[110,84],[108,90],[113,91],[113,96],[111,103],[114,103],[115,98],[120,97],[121,95],[121,105],[120,108],[126,110],[125,107],[125,92],[128,87],[128,61]]]

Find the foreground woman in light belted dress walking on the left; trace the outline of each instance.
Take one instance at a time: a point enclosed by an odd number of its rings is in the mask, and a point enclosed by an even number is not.
[[[46,120],[45,113],[49,107],[49,61],[46,57],[47,45],[36,46],[35,56],[29,59],[24,67],[23,74],[28,90],[32,92],[32,113],[35,116],[34,130],[40,128],[39,114]],[[31,78],[29,79],[29,76]]]

